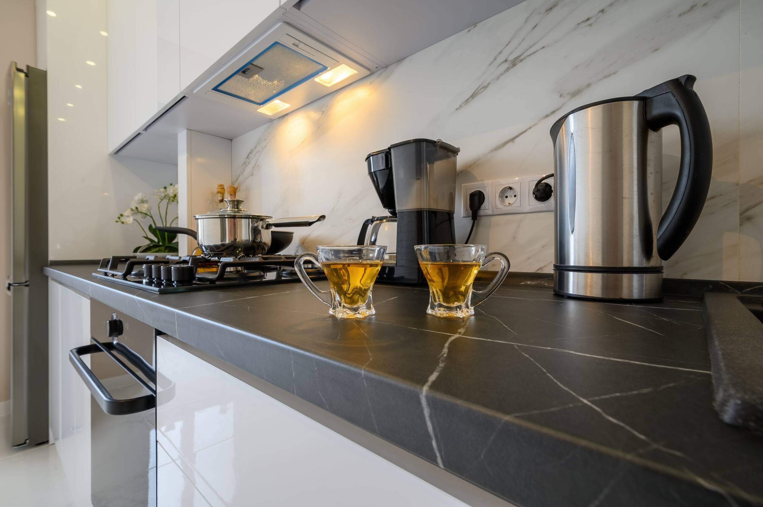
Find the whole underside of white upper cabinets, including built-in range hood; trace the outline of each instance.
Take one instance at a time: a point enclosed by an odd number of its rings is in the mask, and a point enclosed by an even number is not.
[[[521,1],[282,0],[110,152],[175,164],[183,130],[234,139]]]

